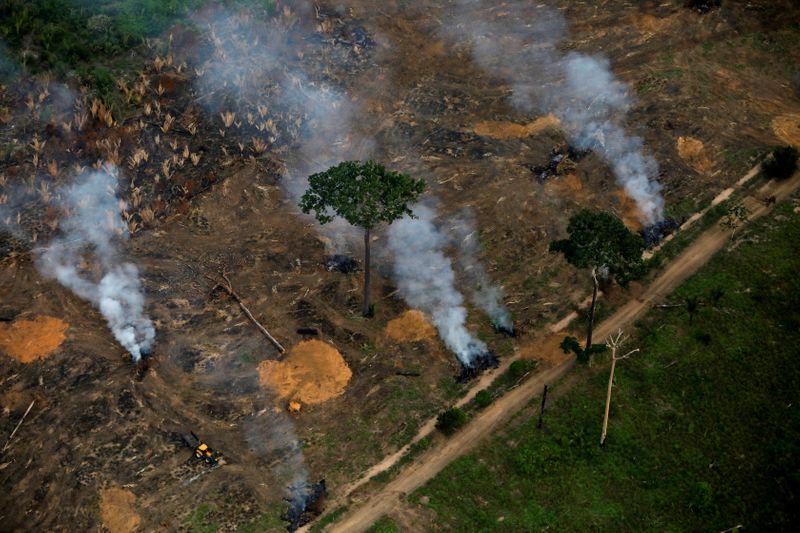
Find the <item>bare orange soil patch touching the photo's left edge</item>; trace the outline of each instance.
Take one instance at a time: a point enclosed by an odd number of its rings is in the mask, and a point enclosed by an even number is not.
[[[21,363],[44,359],[66,339],[69,324],[52,316],[0,323],[0,348]]]

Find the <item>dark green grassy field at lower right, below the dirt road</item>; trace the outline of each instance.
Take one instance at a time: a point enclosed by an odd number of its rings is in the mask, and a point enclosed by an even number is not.
[[[413,497],[454,531],[793,529],[800,480],[798,200],[740,230],[653,310],[618,366],[584,379],[445,469]],[[598,369],[599,370],[599,369]]]

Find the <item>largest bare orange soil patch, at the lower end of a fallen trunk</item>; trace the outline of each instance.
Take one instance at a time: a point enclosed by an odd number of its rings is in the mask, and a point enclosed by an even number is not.
[[[261,384],[281,399],[317,404],[342,394],[353,372],[339,351],[322,341],[297,344],[282,361],[258,365]]]

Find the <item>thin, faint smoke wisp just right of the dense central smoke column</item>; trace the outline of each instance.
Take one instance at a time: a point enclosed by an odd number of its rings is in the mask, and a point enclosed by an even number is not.
[[[472,303],[489,315],[495,327],[513,331],[511,313],[503,304],[503,290],[492,283],[486,267],[478,258],[480,243],[472,211],[462,210],[453,222],[450,232],[458,248],[459,266],[472,289],[470,293]]]

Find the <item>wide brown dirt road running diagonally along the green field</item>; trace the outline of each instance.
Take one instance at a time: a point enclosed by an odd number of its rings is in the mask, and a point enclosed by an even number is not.
[[[798,187],[800,187],[800,173],[796,173],[787,181],[769,182],[757,194],[759,198],[774,195],[780,202]],[[744,203],[750,210],[749,220],[761,217],[770,210],[762,202],[752,197],[746,198]],[[653,302],[675,290],[678,285],[707,263],[716,252],[725,246],[729,238],[730,231],[724,230],[718,225],[714,225],[702,233],[689,248],[669,264],[639,298],[628,302],[597,327],[595,335],[598,340],[604,339],[620,328],[629,327],[650,309]],[[328,531],[353,533],[368,529],[381,516],[390,513],[399,504],[402,497],[424,485],[451,461],[468,453],[484,438],[492,435],[495,428],[533,400],[545,384],[553,383],[564,376],[573,365],[574,359],[570,359],[552,367],[497,399],[476,415],[461,431],[411,462],[382,490],[345,514]]]

